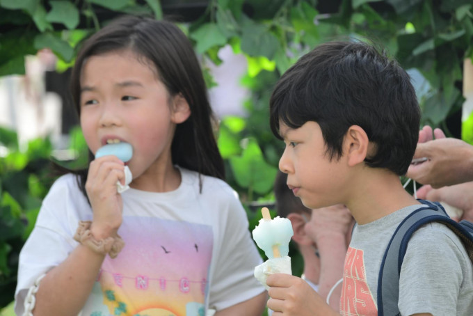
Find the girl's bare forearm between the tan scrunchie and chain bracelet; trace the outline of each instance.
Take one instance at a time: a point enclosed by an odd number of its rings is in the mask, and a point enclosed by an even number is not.
[[[76,316],[86,303],[105,256],[79,244],[40,281],[35,316]]]

